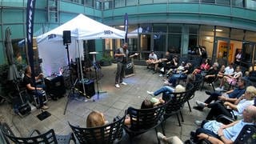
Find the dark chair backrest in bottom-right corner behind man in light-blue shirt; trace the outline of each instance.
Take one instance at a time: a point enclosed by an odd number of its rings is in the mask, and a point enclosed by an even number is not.
[[[254,125],[243,126],[234,144],[256,143],[256,128]]]

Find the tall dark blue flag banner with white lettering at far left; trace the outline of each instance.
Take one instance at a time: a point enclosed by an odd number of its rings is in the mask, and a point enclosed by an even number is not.
[[[34,52],[33,52],[33,30],[34,30],[34,6],[35,0],[27,0],[26,6],[26,39],[27,39],[27,48],[28,48],[28,57],[31,67],[31,77],[35,85],[34,79]]]

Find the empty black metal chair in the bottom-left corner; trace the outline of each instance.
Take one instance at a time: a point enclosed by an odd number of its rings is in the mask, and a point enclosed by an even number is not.
[[[38,130],[33,130],[33,132],[30,134],[29,137],[26,138],[21,138],[21,137],[16,137],[10,130],[10,127],[6,125],[6,123],[2,124],[1,127],[2,134],[4,134],[6,140],[10,139],[14,143],[24,143],[24,144],[34,144],[34,143],[49,143],[49,144],[58,144],[58,143],[70,143],[70,140],[73,140],[74,143],[74,135],[72,133],[68,135],[56,135],[54,133],[54,130],[51,129],[47,131],[44,134],[41,134]],[[36,135],[35,135],[36,133]],[[9,142],[9,141],[8,141]]]

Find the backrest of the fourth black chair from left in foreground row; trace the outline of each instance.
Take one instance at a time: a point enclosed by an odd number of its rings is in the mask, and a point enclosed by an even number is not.
[[[186,91],[181,93],[170,93],[172,98],[167,103],[166,106],[166,114],[165,117],[168,118],[170,115],[177,113],[179,110],[182,110],[184,103],[190,97],[191,91],[193,90],[194,86],[190,86],[190,89],[186,89]]]

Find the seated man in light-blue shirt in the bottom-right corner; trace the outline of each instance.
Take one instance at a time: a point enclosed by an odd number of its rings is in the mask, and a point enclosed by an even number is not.
[[[195,132],[195,141],[207,139],[211,143],[233,143],[243,126],[254,125],[256,122],[256,107],[247,106],[242,112],[242,118],[228,125],[217,121],[203,121],[201,128]]]

